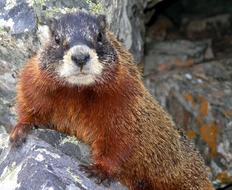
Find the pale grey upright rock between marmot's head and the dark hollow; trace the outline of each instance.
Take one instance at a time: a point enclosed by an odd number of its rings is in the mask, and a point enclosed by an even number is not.
[[[108,15],[110,28],[130,49],[137,63],[141,62],[144,49],[145,23],[143,9],[147,0],[100,0]],[[122,4],[122,7],[115,6]]]

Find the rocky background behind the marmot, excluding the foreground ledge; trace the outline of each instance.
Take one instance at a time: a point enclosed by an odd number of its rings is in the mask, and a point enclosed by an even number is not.
[[[40,46],[38,26],[80,9],[107,15],[215,186],[232,184],[231,0],[0,0],[0,125],[16,122],[17,75]]]

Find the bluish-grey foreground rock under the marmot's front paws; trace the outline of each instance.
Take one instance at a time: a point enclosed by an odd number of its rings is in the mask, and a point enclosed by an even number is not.
[[[0,189],[2,190],[126,190],[119,183],[109,188],[97,185],[79,170],[79,159],[66,154],[86,146],[55,131],[36,130],[19,148],[8,144],[8,134],[0,127]],[[60,148],[63,145],[65,150]],[[86,153],[89,149],[86,147]],[[79,151],[79,156],[86,157]],[[86,164],[86,159],[85,164]]]

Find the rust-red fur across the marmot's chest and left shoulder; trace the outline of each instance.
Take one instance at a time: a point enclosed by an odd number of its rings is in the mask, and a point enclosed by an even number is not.
[[[105,129],[113,127],[117,117],[125,117],[122,109],[130,105],[130,96],[126,92],[120,94],[122,90],[101,89],[101,93],[98,90],[59,85],[41,73],[37,58],[32,58],[24,67],[18,85],[19,118],[31,116],[25,120],[52,125],[60,132],[93,143],[104,135]]]

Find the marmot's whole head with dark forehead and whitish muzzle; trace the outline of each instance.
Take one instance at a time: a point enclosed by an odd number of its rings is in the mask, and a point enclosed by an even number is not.
[[[82,86],[102,82],[116,51],[107,39],[105,16],[84,12],[52,20],[42,30],[41,69],[58,80]]]

